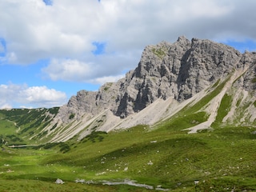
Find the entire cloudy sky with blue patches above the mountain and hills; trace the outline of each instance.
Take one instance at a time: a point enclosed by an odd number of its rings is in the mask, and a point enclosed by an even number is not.
[[[210,39],[256,50],[252,0],[1,0],[0,109],[62,106],[138,66],[145,46]]]

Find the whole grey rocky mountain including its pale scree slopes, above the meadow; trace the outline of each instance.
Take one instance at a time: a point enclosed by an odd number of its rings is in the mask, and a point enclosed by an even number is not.
[[[78,91],[30,140],[66,142],[94,131],[169,121],[189,133],[216,126],[256,126],[256,53],[179,37],[146,46],[135,70],[98,91]],[[49,117],[49,111],[40,114]],[[178,123],[177,122],[186,122]],[[28,125],[28,124],[27,124]],[[27,131],[28,132],[28,131]],[[26,131],[24,131],[24,134]]]

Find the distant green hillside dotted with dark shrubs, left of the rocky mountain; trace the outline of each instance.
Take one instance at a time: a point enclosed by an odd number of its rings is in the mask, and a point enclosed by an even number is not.
[[[47,142],[39,140],[47,134],[41,133],[41,130],[49,125],[57,113],[58,107],[0,110],[0,140],[7,145]],[[33,136],[34,138],[30,139]]]

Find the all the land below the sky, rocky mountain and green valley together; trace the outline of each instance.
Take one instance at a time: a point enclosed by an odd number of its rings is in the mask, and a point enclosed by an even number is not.
[[[256,53],[146,46],[64,106],[0,110],[0,145],[0,191],[255,191]]]

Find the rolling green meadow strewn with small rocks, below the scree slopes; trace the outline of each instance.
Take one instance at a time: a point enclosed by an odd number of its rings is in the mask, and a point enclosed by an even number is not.
[[[0,151],[0,191],[152,191],[102,185],[135,180],[154,190],[255,191],[256,129],[225,127],[198,134],[136,126],[81,142]],[[65,183],[55,184],[57,178]],[[86,183],[76,183],[76,179]]]

